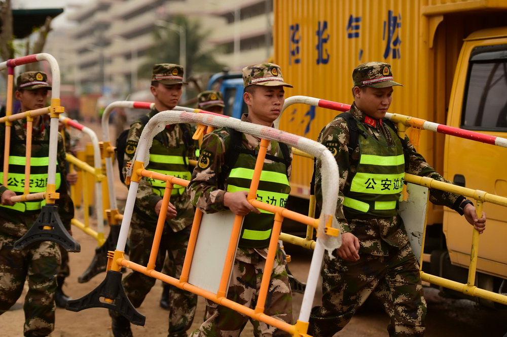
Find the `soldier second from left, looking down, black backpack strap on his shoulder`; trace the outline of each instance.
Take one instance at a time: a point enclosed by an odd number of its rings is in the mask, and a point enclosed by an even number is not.
[[[183,67],[177,64],[156,64],[153,67],[152,85],[155,107],[148,117],[159,111],[172,110],[182,95]],[[125,160],[132,161],[141,132],[146,125],[140,120],[132,123],[125,148]],[[195,158],[197,142],[192,140],[189,124],[167,125],[164,131],[155,136],[150,149],[150,163],[147,170],[157,171],[182,179],[190,180],[189,159]],[[124,175],[126,168],[124,168]],[[161,271],[166,252],[170,259],[169,276],[179,278],[187,250],[190,229],[194,219],[194,209],[190,204],[185,188],[175,186],[167,207],[166,222],[155,270]],[[130,260],[141,266],[148,265],[150,250],[155,236],[165,182],[142,178],[137,189],[136,201],[130,224]],[[123,279],[127,296],[138,308],[156,279],[139,272],[132,272]],[[194,319],[197,296],[193,293],[170,286],[169,292],[169,334],[170,337],[186,336]],[[115,337],[131,336],[130,322],[121,314],[110,310]]]

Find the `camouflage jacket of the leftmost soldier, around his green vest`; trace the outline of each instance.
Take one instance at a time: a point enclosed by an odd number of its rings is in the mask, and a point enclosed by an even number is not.
[[[49,141],[49,121],[46,123],[47,116],[42,116],[40,119],[41,122],[38,126],[33,126],[32,128],[32,140],[33,141]],[[11,126],[11,136],[13,136],[15,139],[18,140],[26,140],[26,119],[16,120],[12,122]],[[35,151],[37,147],[40,147],[39,144],[32,144],[32,150]],[[5,148],[5,124],[0,124],[0,147]],[[25,145],[22,146],[25,148]],[[11,155],[13,153],[11,152]],[[25,155],[25,152],[23,150],[23,153],[20,155]],[[49,155],[49,153],[48,153]],[[72,203],[72,200],[70,199],[69,193],[68,193],[68,186],[65,183],[66,176],[67,176],[67,168],[66,168],[66,160],[65,160],[65,151],[63,147],[63,140],[60,134],[58,134],[58,150],[56,153],[56,158],[58,160],[58,165],[60,168],[60,174],[61,174],[61,184],[60,188],[56,191],[60,193],[60,198],[56,200],[56,205],[58,206],[58,214],[60,216],[60,220],[62,221],[63,225],[65,226],[65,229],[70,230],[70,220],[74,218],[74,204]],[[0,154],[0,161],[4,162],[4,153]],[[1,168],[0,170],[3,170]],[[58,174],[58,173],[57,173]],[[0,196],[8,190],[8,186],[2,185],[2,182],[0,182]],[[3,208],[0,210],[0,212],[6,212],[6,214],[9,214],[11,212],[10,209]],[[13,235],[16,237],[23,236],[28,228],[0,228],[0,232]]]

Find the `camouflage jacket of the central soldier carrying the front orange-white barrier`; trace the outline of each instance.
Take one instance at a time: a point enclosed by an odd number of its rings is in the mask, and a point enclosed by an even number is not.
[[[248,115],[244,114],[241,117],[242,121],[250,121]],[[220,136],[219,136],[220,134]],[[209,166],[204,169],[196,165],[192,174],[192,180],[187,187],[187,194],[190,197],[190,202],[204,213],[216,213],[227,210],[224,206],[224,194],[227,190],[227,179],[225,181],[224,189],[220,189],[218,184],[218,177],[222,171],[222,166],[225,163],[225,155],[229,148],[231,137],[226,129],[215,130],[204,136],[201,144],[201,156],[199,160],[209,160]],[[252,135],[242,134],[242,145],[247,150],[259,150],[260,138]],[[275,146],[273,146],[275,145]],[[270,142],[267,154],[278,156],[280,147],[276,142]],[[292,151],[290,152],[291,164],[287,167],[287,176],[291,177],[292,172]],[[266,162],[271,163],[269,159]],[[268,249],[257,248],[242,248],[238,247],[236,252],[236,259],[246,263],[256,264],[259,262],[259,256],[264,259],[268,256]]]

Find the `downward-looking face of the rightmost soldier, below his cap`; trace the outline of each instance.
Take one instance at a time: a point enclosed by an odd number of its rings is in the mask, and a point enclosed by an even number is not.
[[[353,92],[357,108],[372,118],[383,118],[391,105],[392,87],[354,87]]]

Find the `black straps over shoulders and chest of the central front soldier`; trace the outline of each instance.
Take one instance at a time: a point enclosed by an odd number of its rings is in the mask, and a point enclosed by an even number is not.
[[[219,181],[218,181],[219,187],[222,189],[225,188],[225,180],[227,179],[227,177],[229,177],[229,173],[231,172],[232,168],[236,164],[236,161],[238,160],[240,153],[249,154],[254,157],[257,157],[257,155],[259,154],[259,151],[247,150],[247,149],[243,148],[243,146],[241,146],[241,140],[242,140],[241,132],[231,129],[231,128],[225,128],[225,129],[229,133],[229,135],[231,136],[231,141],[229,143],[229,148],[227,149],[226,154],[225,154],[225,162],[224,162],[224,165],[222,166],[222,171],[220,173],[220,177],[219,177]],[[274,156],[271,154],[266,154],[266,159],[284,163],[285,170],[287,171],[288,166],[291,164],[291,162],[289,161],[291,155],[290,155],[287,144],[284,144],[284,143],[278,143],[278,144],[280,146],[280,151],[282,152],[283,158],[280,158],[280,157],[277,157],[277,156]],[[287,173],[288,172],[286,172],[286,174]]]

